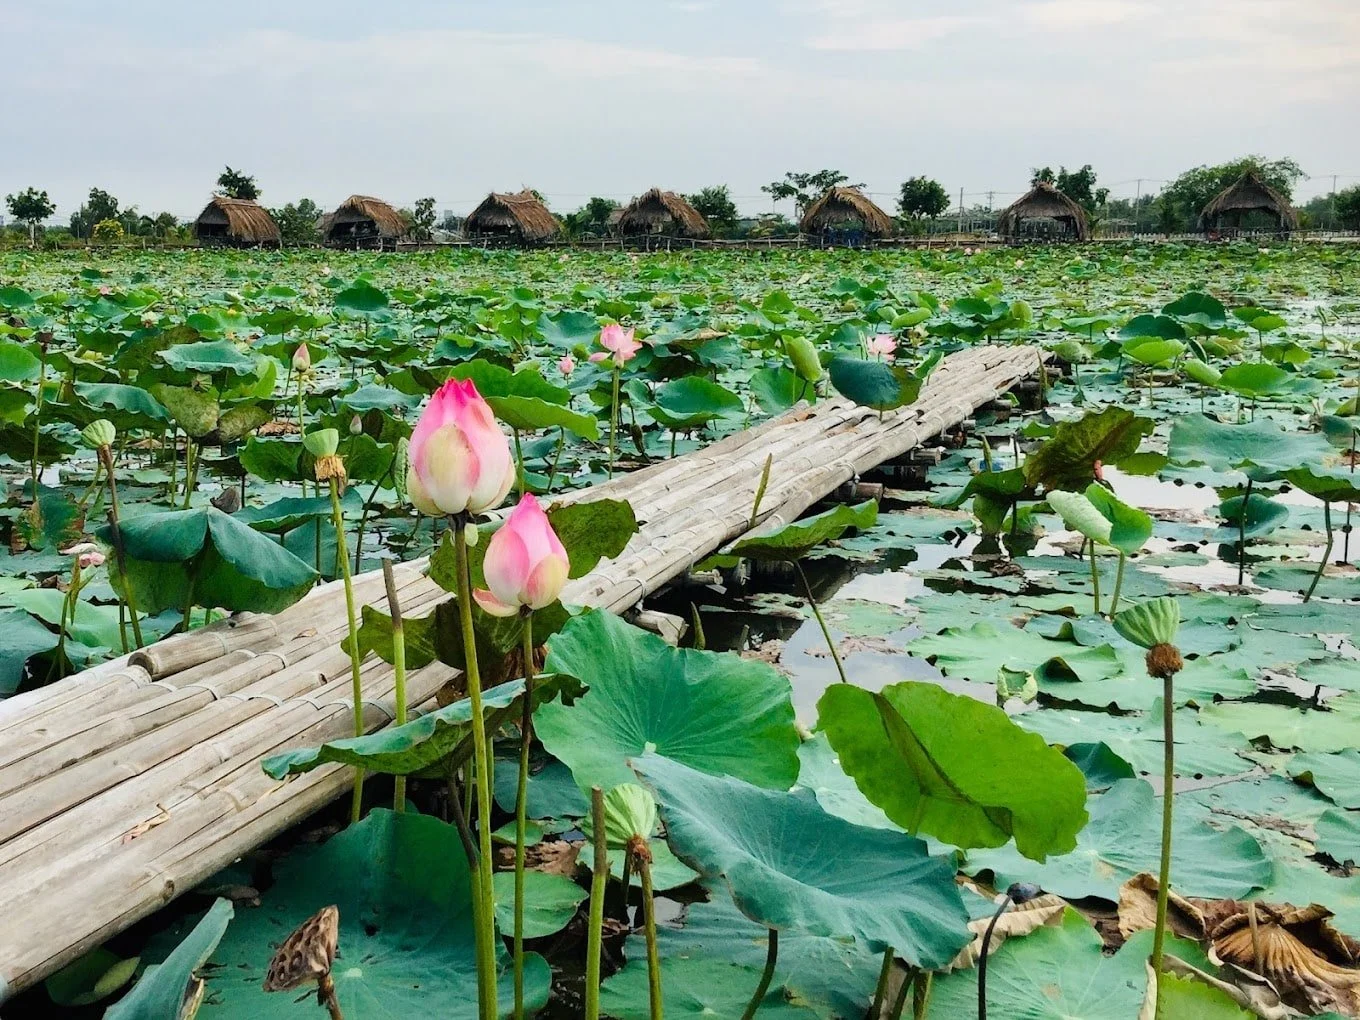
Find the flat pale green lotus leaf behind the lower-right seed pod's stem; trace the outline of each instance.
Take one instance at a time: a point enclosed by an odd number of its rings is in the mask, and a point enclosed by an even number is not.
[[[1115,902],[1119,885],[1140,872],[1157,872],[1161,854],[1161,805],[1142,779],[1121,779],[1088,802],[1091,821],[1077,849],[1043,864],[1005,846],[968,854],[970,873],[989,870],[996,887],[1032,881],[1066,899],[1098,896]],[[1236,827],[1223,831],[1202,811],[1176,804],[1171,840],[1171,885],[1185,896],[1236,898],[1270,881],[1270,860]]]

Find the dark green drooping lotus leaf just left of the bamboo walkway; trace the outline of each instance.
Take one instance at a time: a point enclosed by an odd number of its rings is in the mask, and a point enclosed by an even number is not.
[[[98,532],[113,543],[107,525]],[[132,585],[137,608],[158,613],[203,605],[279,612],[316,583],[317,571],[276,541],[215,507],[167,510],[122,522],[126,577],[109,559],[110,575]]]

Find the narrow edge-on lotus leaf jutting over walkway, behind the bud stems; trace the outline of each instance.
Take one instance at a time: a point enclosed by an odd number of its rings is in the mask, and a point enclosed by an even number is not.
[[[541,676],[533,685],[533,703],[541,706],[559,694],[574,696],[579,684],[568,676]],[[524,704],[524,680],[507,680],[481,698],[481,709],[491,732],[506,719],[520,718]],[[412,775],[432,768],[442,759],[462,748],[471,751],[472,702],[462,698],[403,726],[388,726],[362,737],[332,740],[321,747],[296,748],[271,755],[264,771],[275,779],[310,772],[322,764],[356,766],[370,772]],[[464,744],[466,743],[466,747]]]

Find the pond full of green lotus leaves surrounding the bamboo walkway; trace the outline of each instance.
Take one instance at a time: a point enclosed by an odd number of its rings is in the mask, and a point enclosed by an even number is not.
[[[476,1017],[492,983],[502,1016],[952,1019],[982,1015],[981,960],[993,1016],[1360,1016],[1355,246],[7,253],[0,309],[0,694],[386,558],[431,556],[458,608],[363,612],[359,653],[534,666],[488,681],[486,729],[460,691],[264,762],[363,764],[360,819],[11,1020]],[[547,507],[800,400],[891,412],[981,343],[1058,360],[937,464],[869,476],[881,499],[649,601],[680,649],[473,607],[494,525],[412,509],[450,378]],[[620,500],[547,520],[571,577],[636,528]]]

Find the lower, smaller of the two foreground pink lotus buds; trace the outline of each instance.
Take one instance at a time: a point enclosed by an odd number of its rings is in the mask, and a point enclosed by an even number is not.
[[[571,562],[556,532],[529,492],[510,511],[491,541],[481,564],[490,592],[473,592],[477,605],[492,616],[514,616],[521,608],[541,609],[562,594]]]

